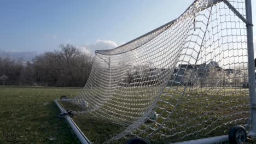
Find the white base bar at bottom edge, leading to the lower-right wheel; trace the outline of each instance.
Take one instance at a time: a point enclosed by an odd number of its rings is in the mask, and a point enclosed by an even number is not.
[[[206,139],[178,142],[176,144],[205,144],[205,143],[213,144],[213,143],[222,143],[227,141],[229,141],[229,136],[223,135],[223,136],[209,137]]]

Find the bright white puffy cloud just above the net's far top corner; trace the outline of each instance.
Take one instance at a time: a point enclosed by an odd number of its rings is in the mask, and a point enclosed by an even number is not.
[[[118,44],[111,40],[100,40],[98,39],[95,44],[85,44],[78,47],[82,52],[94,53],[96,50],[107,50],[114,49]]]

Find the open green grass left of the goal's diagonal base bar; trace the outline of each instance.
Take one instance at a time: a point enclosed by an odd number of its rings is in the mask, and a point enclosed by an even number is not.
[[[0,143],[80,143],[53,101],[77,91],[0,87]]]

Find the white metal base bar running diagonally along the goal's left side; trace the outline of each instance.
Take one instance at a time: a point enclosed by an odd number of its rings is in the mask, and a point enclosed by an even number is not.
[[[59,107],[61,112],[66,112],[66,110],[60,105],[59,100],[54,100],[55,104]],[[90,144],[91,142],[87,139],[84,133],[78,128],[77,124],[73,121],[71,117],[66,117],[66,121],[74,131],[75,135],[77,135],[78,139],[83,144]]]

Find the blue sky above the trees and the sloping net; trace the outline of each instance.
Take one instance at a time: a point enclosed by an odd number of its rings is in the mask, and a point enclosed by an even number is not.
[[[1,0],[0,50],[42,53],[67,43],[117,46],[175,19],[193,1]],[[253,15],[256,25],[255,9]],[[254,26],[254,37],[255,31]]]

